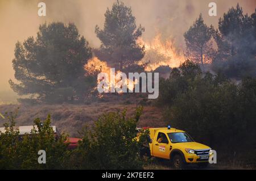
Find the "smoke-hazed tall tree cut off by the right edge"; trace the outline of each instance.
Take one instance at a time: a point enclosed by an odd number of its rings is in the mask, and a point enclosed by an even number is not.
[[[243,15],[242,7],[237,4],[220,18],[218,29],[214,35],[218,47],[214,70],[228,77],[255,76],[255,13]]]

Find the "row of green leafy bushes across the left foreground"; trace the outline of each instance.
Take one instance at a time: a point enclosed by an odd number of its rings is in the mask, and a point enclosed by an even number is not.
[[[126,111],[101,115],[92,128],[85,127],[78,148],[68,150],[67,136],[56,134],[50,116],[35,119],[30,134],[19,135],[15,113],[6,113],[9,123],[0,133],[0,169],[142,169],[135,130],[142,113]],[[46,151],[46,164],[38,163],[38,151]]]

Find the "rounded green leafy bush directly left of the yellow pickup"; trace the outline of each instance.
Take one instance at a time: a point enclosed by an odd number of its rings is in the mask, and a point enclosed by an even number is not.
[[[142,169],[134,138],[141,112],[139,107],[129,118],[126,111],[105,113],[91,129],[86,127],[75,154],[78,169]]]

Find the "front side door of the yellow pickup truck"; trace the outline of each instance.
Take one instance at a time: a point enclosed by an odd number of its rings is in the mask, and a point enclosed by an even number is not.
[[[165,133],[158,132],[153,148],[155,157],[170,158],[170,142]]]

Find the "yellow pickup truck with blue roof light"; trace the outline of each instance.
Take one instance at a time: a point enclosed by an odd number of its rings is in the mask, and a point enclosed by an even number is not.
[[[209,146],[195,142],[188,133],[168,126],[148,128],[152,140],[151,156],[169,159],[174,169],[183,169],[186,163],[207,167],[212,151]]]

